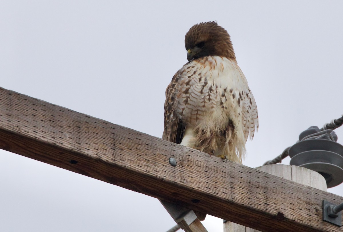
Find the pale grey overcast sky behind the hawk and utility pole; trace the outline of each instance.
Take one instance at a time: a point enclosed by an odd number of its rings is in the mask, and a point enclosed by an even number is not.
[[[187,62],[184,36],[216,20],[257,102],[260,128],[244,161],[257,167],[343,113],[342,10],[342,1],[313,0],[0,0],[0,86],[161,137],[165,89]],[[343,128],[336,133],[342,143]],[[0,185],[1,231],[175,224],[155,198],[3,150]],[[343,195],[343,184],[329,192]],[[221,219],[204,224],[222,231]]]

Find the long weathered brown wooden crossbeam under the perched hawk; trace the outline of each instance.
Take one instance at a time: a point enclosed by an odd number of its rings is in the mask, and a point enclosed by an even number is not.
[[[342,231],[321,218],[341,196],[1,88],[0,148],[260,231]]]

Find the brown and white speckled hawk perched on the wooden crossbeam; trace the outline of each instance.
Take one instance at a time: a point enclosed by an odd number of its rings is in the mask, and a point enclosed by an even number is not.
[[[242,163],[258,113],[227,31],[216,22],[192,26],[186,63],[166,89],[163,139]]]

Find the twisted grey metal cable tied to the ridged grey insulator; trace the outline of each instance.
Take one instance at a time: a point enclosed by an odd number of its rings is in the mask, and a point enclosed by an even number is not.
[[[333,120],[331,120],[330,123],[325,123],[323,125],[323,128],[321,128],[319,132],[311,134],[311,135],[308,135],[308,136],[305,136],[303,139],[301,139],[301,141],[304,141],[305,139],[318,139],[318,138],[325,137],[327,135],[329,136],[329,138],[331,140],[334,140],[332,135],[331,135],[331,132],[333,130],[335,130],[336,128],[340,127],[342,124],[343,124],[343,114],[342,114],[341,118],[333,119]],[[289,148],[291,148],[291,147],[287,147],[282,152],[281,155],[275,157],[272,160],[269,160],[269,161],[265,162],[263,165],[281,163],[281,161],[289,155],[288,154]]]

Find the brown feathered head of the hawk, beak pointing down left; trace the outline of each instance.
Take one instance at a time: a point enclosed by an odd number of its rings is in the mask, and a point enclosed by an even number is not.
[[[185,46],[188,61],[206,56],[220,56],[236,61],[229,34],[215,21],[192,26],[186,33]]]

